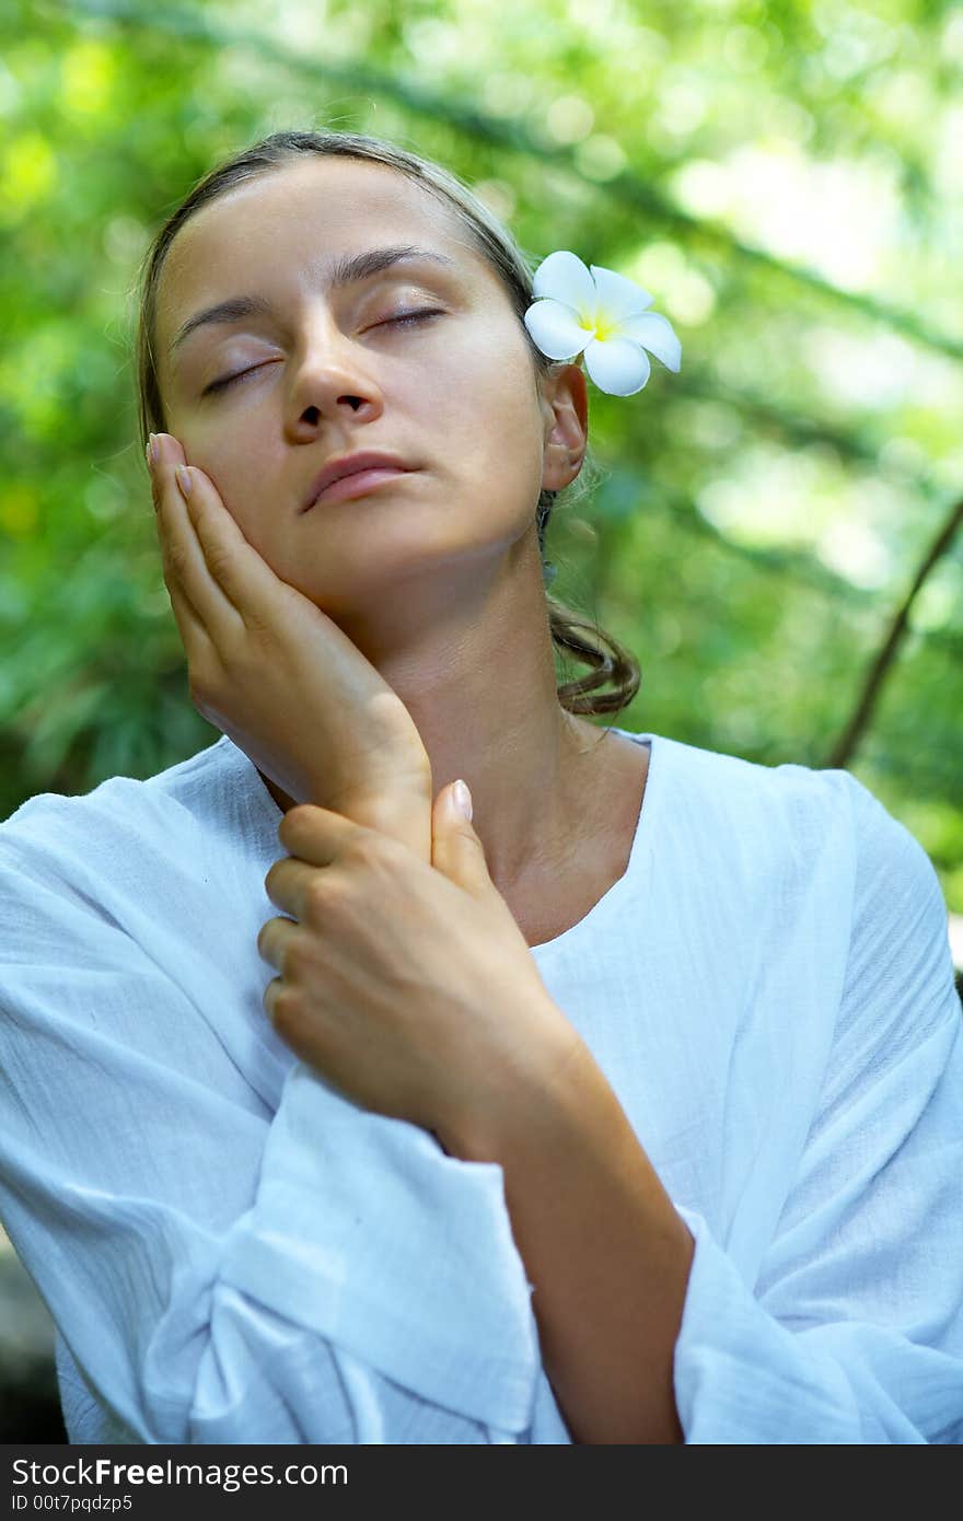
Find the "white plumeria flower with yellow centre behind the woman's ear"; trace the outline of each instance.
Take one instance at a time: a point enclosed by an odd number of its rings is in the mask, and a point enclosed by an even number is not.
[[[583,265],[560,248],[536,269],[525,327],[549,359],[584,351],[590,379],[609,395],[634,395],[651,374],[645,350],[679,371],[682,344],[672,324],[648,312],[654,297],[615,269]]]

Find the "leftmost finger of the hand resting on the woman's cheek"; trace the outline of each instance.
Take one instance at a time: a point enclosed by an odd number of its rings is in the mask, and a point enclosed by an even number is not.
[[[205,646],[211,642],[215,646],[222,646],[225,639],[243,630],[243,621],[224,587],[211,575],[207,552],[196,531],[196,487],[186,499],[176,482],[175,472],[184,462],[184,452],[169,433],[158,433],[157,444],[158,458],[154,465],[157,525],[164,554],[164,580],[175,618],[180,604],[186,621],[183,633],[189,631],[195,639],[202,637]],[[190,470],[192,482],[198,475],[201,472]],[[207,481],[207,476],[204,479]],[[210,493],[215,491],[210,482],[208,488]],[[227,510],[224,513],[230,517]]]

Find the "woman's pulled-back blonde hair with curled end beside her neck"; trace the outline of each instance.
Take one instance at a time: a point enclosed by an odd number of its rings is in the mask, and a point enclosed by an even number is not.
[[[537,377],[542,379],[551,370],[552,360],[546,359],[536,347],[522,321],[532,300],[532,272],[528,268],[525,256],[494,213],[456,175],[441,164],[434,163],[434,160],[421,158],[417,154],[397,148],[394,143],[362,132],[274,132],[271,137],[224,160],[204,175],[167,218],[145,254],[140,271],[140,310],[135,339],[141,449],[146,447],[149,433],[167,432],[154,356],[154,335],[157,330],[157,292],[170,243],[199,207],[215,201],[219,195],[225,195],[234,186],[289,164],[300,154],[336,154],[385,164],[402,175],[408,175],[409,179],[417,181],[426,192],[437,196],[462,222],[473,245],[487,259],[505,286],[516,309],[519,325],[529,345]],[[586,464],[583,462],[578,479],[584,475]],[[566,490],[572,493],[572,487]],[[584,481],[581,490],[586,490]],[[555,572],[555,567],[545,560],[545,534],[557,496],[557,491],[542,491],[536,510],[539,552],[546,583]],[[592,666],[587,675],[574,681],[564,681],[557,687],[558,703],[569,713],[618,713],[631,703],[639,689],[640,675],[634,657],[599,628],[596,622],[584,619],[548,590],[546,604],[552,645],[563,660],[566,656],[570,656]],[[590,633],[595,642],[589,640],[583,631]],[[599,645],[602,648],[598,648]],[[605,683],[613,683],[613,689],[601,692],[599,687]]]

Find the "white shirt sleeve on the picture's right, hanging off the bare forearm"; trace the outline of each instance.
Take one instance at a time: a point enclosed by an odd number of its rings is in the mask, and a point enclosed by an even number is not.
[[[847,782],[844,992],[758,1281],[675,1206],[695,1237],[674,1363],[688,1442],[963,1440],[963,1011],[946,905],[917,840]]]

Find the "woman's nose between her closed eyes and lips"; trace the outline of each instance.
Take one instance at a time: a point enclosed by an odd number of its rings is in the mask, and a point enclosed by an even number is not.
[[[341,417],[356,424],[380,417],[382,409],[371,356],[341,332],[329,312],[313,312],[304,325],[288,399],[291,440],[310,443]]]

